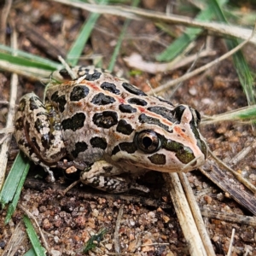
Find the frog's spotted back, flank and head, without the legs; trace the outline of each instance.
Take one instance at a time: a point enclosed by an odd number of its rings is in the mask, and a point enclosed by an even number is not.
[[[80,67],[78,74],[74,81],[50,84],[45,97],[58,108],[67,152],[74,160],[90,164],[110,158],[178,172],[198,158],[184,171],[201,166],[207,149],[194,109],[177,109],[101,69]]]

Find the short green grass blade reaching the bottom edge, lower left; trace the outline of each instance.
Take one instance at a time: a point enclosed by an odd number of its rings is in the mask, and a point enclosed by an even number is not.
[[[38,256],[44,256],[46,255],[46,250],[44,247],[41,246],[41,243],[38,239],[38,235],[36,231],[34,230],[32,223],[30,219],[25,215],[23,217],[24,224],[26,225],[26,233],[27,236],[29,237],[29,240],[32,243],[32,247]]]

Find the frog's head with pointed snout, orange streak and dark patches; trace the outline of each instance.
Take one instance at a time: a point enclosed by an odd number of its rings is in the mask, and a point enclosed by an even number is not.
[[[189,172],[202,166],[207,158],[207,143],[198,127],[200,113],[178,105],[168,115],[155,119],[140,114],[140,125],[131,134],[132,143],[119,143],[112,159],[160,172]]]

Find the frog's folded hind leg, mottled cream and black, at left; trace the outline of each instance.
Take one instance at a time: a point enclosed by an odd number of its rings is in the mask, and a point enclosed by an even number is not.
[[[53,177],[49,167],[67,154],[55,108],[44,106],[34,93],[21,97],[15,115],[15,138],[20,150]]]

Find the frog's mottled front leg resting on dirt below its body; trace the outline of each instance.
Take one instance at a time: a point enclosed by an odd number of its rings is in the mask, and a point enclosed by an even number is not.
[[[99,160],[81,172],[80,180],[91,187],[111,193],[123,193],[130,189],[148,192],[148,188],[131,182],[131,179],[117,176],[123,172],[119,167],[113,166],[105,160]]]

